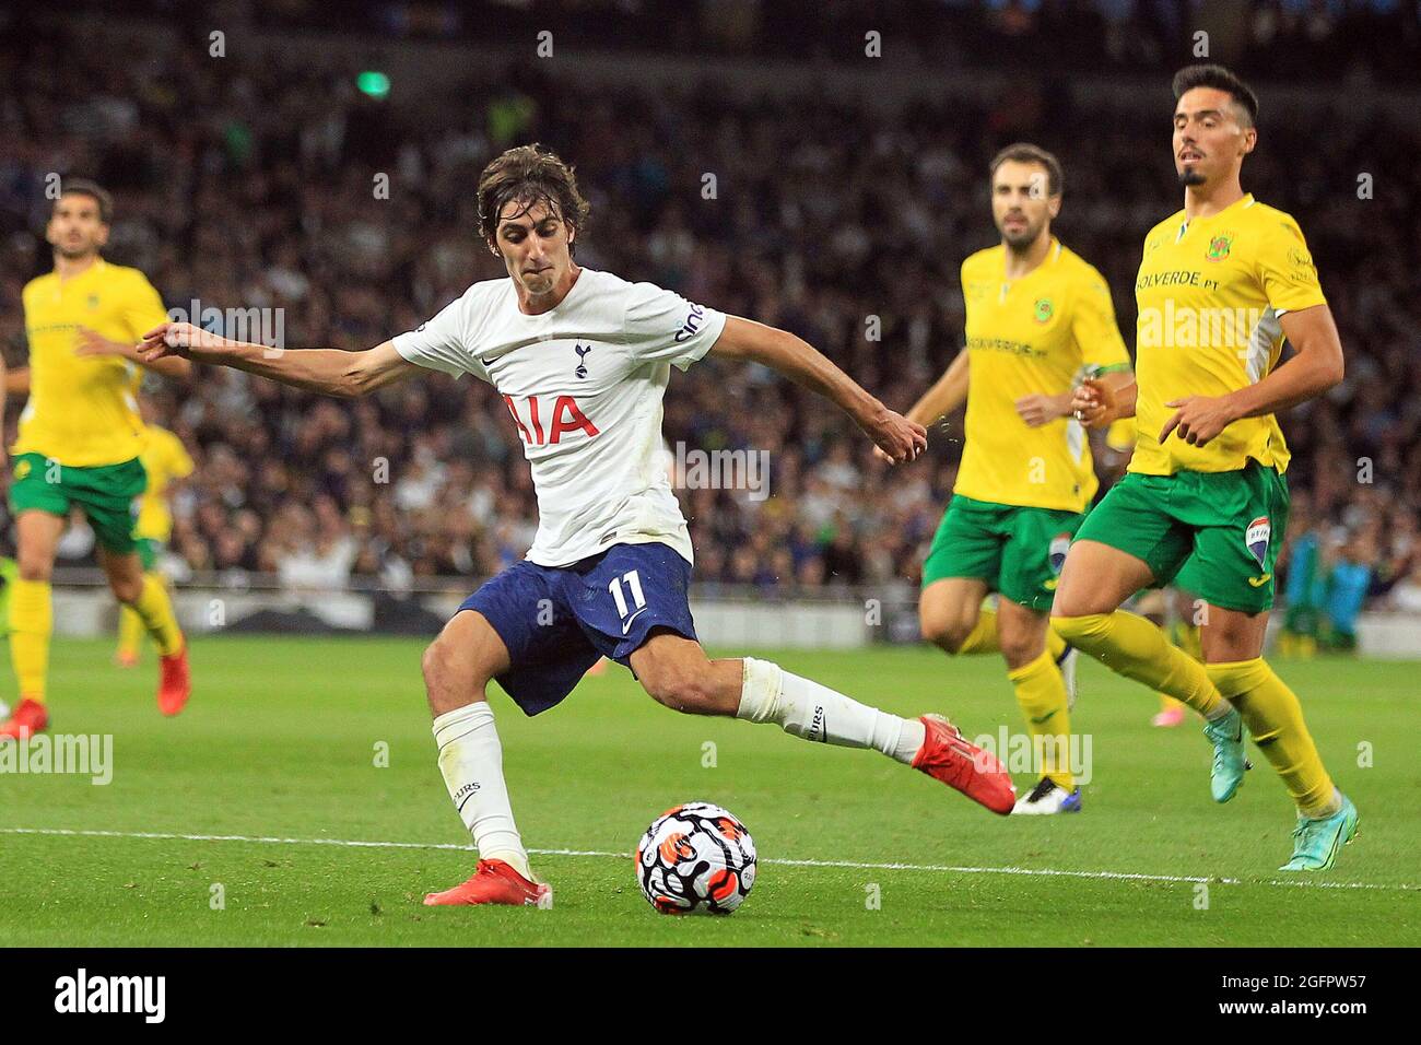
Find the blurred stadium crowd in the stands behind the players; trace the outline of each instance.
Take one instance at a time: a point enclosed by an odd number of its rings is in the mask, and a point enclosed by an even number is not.
[[[898,409],[961,344],[958,266],[995,242],[985,178],[999,146],[1027,138],[1060,155],[1056,229],[1110,280],[1127,343],[1142,235],[1178,206],[1164,115],[1103,117],[1060,80],[870,117],[823,98],[737,104],[696,84],[608,90],[472,68],[446,97],[402,105],[399,84],[375,100],[317,57],[287,68],[212,61],[195,45],[159,63],[58,30],[0,44],[0,74],[20,88],[0,98],[11,367],[24,358],[20,290],[50,264],[37,235],[50,172],[114,191],[107,254],[148,273],[168,306],[280,309],[286,344],[358,348],[502,274],[476,235],[473,185],[507,145],[541,141],[577,165],[593,202],[581,264],[786,327]],[[1324,601],[1421,610],[1421,135],[1356,102],[1285,118],[1260,87],[1245,188],[1299,218],[1349,355],[1346,382],[1283,422],[1290,540],[1317,542]],[[516,429],[477,381],[431,373],[345,404],[200,368],[189,387],[152,378],[149,397],[198,462],[175,493],[180,576],[468,587],[531,542]],[[699,583],[773,594],[912,582],[961,431],[951,418],[926,461],[887,469],[845,418],[767,371],[708,361],[678,373],[672,455],[678,444],[767,451],[772,466],[769,499],[681,492]],[[82,562],[75,532],[67,550]],[[1326,589],[1343,574],[1346,599]]]

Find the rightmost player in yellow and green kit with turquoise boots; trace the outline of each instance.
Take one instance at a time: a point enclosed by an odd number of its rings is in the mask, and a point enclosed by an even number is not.
[[[1216,802],[1243,782],[1246,724],[1297,806],[1280,870],[1324,870],[1356,836],[1357,809],[1262,651],[1289,508],[1275,412],[1341,381],[1341,344],[1297,222],[1239,182],[1258,142],[1258,98],[1219,65],[1181,70],[1174,94],[1184,209],[1145,236],[1137,385],[1087,382],[1074,400],[1091,425],[1134,414],[1135,452],[1066,557],[1053,624],[1205,717]],[[1296,354],[1279,365],[1285,338]],[[1205,601],[1202,665],[1118,611],[1131,593],[1175,577]]]

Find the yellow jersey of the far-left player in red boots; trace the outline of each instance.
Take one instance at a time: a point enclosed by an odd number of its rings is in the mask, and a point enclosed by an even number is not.
[[[162,299],[138,272],[97,259],[60,280],[45,273],[21,294],[30,341],[30,401],[13,454],[44,454],[71,468],[117,465],[144,449],[142,367],[117,355],[75,355],[80,328],[138,344],[163,323]]]

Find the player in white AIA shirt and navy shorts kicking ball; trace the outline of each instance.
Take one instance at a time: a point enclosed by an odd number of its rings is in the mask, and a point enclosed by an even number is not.
[[[480,233],[509,279],[475,283],[374,348],[271,351],[188,323],[165,323],[144,341],[146,360],[183,355],[345,398],[421,368],[473,374],[503,397],[531,466],[539,530],[527,559],[465,600],[423,657],[439,769],[480,857],[473,877],[425,903],[551,903],[513,819],[486,690],[497,680],[534,715],[601,655],[676,711],[874,748],[1010,813],[1005,766],[945,718],[898,718],[763,660],[712,661],[686,601],[691,537],[662,463],[672,365],[686,370],[708,353],[762,363],[838,405],[894,462],[922,452],[922,425],[793,334],[578,266],[588,205],[554,154],[509,149],[485,168],[477,202]]]

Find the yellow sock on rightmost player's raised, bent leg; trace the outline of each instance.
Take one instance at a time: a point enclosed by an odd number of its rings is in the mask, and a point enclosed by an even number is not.
[[[1171,645],[1164,631],[1124,610],[1052,617],[1052,627],[1107,668],[1184,701],[1201,715],[1219,715],[1222,697],[1204,665]]]

